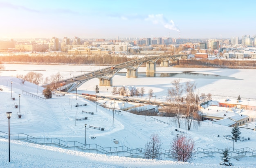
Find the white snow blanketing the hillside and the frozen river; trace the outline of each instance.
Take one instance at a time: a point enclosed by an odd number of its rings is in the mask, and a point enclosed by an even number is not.
[[[162,148],[169,150],[170,143],[177,137],[177,125],[171,118],[153,116],[155,119],[164,121],[168,124],[159,123],[148,117],[145,121],[145,116],[138,116],[125,111],[113,113],[111,109],[105,109],[100,105],[84,99],[81,93],[92,93],[95,85],[98,85],[98,79],[92,79],[79,87],[76,100],[75,93],[66,93],[65,96],[55,96],[46,101],[36,99],[35,97],[23,94],[22,90],[31,92],[32,94],[42,96],[43,87],[25,82],[24,85],[18,78],[10,77],[19,74],[27,74],[27,72],[35,70],[41,72],[45,76],[63,72],[66,78],[69,78],[71,72],[75,75],[83,74],[83,71],[90,71],[90,66],[68,66],[68,65],[15,65],[6,64],[5,70],[2,71],[0,77],[0,131],[8,133],[8,119],[6,112],[12,112],[10,119],[10,133],[24,133],[36,138],[58,138],[63,141],[78,141],[84,144],[85,141],[85,123],[86,127],[86,144],[97,144],[102,147],[118,147],[127,146],[128,148],[144,148],[147,141],[150,140],[151,134],[158,134],[161,139]],[[51,69],[52,68],[52,69]],[[99,67],[92,67],[92,69]],[[11,71],[17,69],[16,71]],[[47,70],[41,70],[47,69]],[[61,70],[60,70],[61,69]],[[64,69],[64,70],[63,70]],[[81,70],[82,69],[82,70]],[[144,67],[139,68],[143,72]],[[81,72],[80,72],[81,71]],[[194,73],[213,74],[234,77],[231,79],[211,79],[211,78],[182,78],[182,82],[195,81],[200,92],[211,93],[220,96],[235,96],[256,98],[252,92],[254,90],[255,80],[252,76],[255,74],[254,69],[199,69],[199,68],[172,68],[172,67],[157,67],[157,72],[184,72],[193,71]],[[124,70],[125,72],[125,70]],[[44,76],[44,77],[45,77]],[[153,80],[152,80],[153,79]],[[144,87],[145,90],[153,89],[156,95],[156,101],[165,102],[166,91],[171,87],[171,82],[176,78],[126,78],[125,76],[114,76],[113,85],[135,85],[135,87]],[[11,87],[11,81],[13,81]],[[243,87],[246,86],[246,87]],[[11,93],[12,88],[12,93]],[[107,90],[108,88],[108,90]],[[99,86],[99,95],[111,96],[112,87]],[[15,100],[11,99],[11,94]],[[20,99],[18,94],[21,94]],[[121,97],[120,97],[121,98]],[[148,95],[143,98],[148,101]],[[137,98],[134,98],[137,99]],[[217,99],[217,97],[216,97]],[[242,98],[243,100],[243,98]],[[15,108],[14,103],[20,106]],[[143,102],[144,102],[143,101]],[[151,100],[150,100],[151,101]],[[106,102],[99,98],[98,103]],[[75,104],[87,103],[87,106],[75,107]],[[112,105],[113,100],[109,100],[108,105]],[[118,99],[115,101],[116,106],[121,103]],[[130,102],[128,102],[130,103]],[[143,104],[143,103],[142,103]],[[22,115],[21,119],[16,114],[19,112]],[[94,112],[94,115],[86,114],[83,111]],[[88,117],[88,120],[76,121],[76,119]],[[182,128],[186,134],[185,120],[182,121]],[[114,126],[112,126],[114,124]],[[104,128],[104,131],[89,128],[89,125]],[[0,132],[2,136],[3,133]],[[242,129],[241,137],[248,138],[247,141],[238,141],[234,143],[234,148],[251,148],[256,150],[256,132],[253,130]],[[180,133],[180,132],[179,132]],[[181,134],[181,133],[180,133]],[[232,148],[233,141],[225,139],[223,135],[231,134],[231,128],[224,125],[217,125],[202,122],[198,128],[192,128],[187,132],[187,136],[193,137],[196,148]],[[219,135],[219,137],[218,137]],[[5,137],[8,137],[8,135]],[[12,136],[11,136],[12,137]],[[92,139],[91,137],[96,137]],[[119,143],[114,142],[118,140]],[[88,153],[77,150],[67,150],[54,146],[43,146],[24,141],[11,140],[11,162],[8,162],[8,139],[0,138],[0,168],[27,168],[27,167],[91,167],[91,168],[219,168],[225,167],[219,165],[221,156],[209,155],[194,157],[190,163],[173,161],[171,158],[162,158],[161,160],[151,160],[143,158],[131,158],[122,156],[102,155],[96,153]],[[230,156],[229,156],[230,157]],[[231,157],[230,162],[234,167],[256,167],[255,157],[243,155],[239,157]]]

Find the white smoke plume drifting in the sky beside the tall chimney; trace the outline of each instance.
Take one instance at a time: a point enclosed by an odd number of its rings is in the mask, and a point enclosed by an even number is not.
[[[163,14],[148,15],[145,20],[150,20],[153,24],[162,24],[166,29],[180,31],[179,27],[175,25],[173,20],[168,22],[168,20],[163,16]]]

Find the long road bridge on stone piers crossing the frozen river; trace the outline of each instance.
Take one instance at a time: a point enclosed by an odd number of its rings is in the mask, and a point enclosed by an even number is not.
[[[72,92],[76,90],[76,87],[83,85],[86,81],[91,80],[92,78],[99,78],[100,86],[112,86],[112,78],[119,72],[121,69],[126,68],[127,78],[137,78],[138,77],[138,68],[146,63],[146,73],[149,75],[153,75],[156,69],[156,62],[160,60],[160,66],[168,67],[169,62],[175,62],[180,59],[187,59],[187,55],[185,54],[175,54],[175,55],[156,55],[156,56],[147,56],[138,58],[136,60],[130,60],[124,63],[120,63],[118,65],[114,65],[112,67],[107,67],[104,69],[99,69],[95,72],[90,72],[88,74],[84,74],[81,76],[75,76],[72,79],[68,79],[65,84],[61,86],[62,82],[58,83],[50,83],[49,86],[55,85],[59,91]],[[44,85],[46,87],[47,85]]]

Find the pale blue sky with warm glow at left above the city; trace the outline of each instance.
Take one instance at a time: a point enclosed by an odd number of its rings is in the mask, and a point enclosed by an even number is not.
[[[0,0],[0,39],[254,36],[252,0]]]

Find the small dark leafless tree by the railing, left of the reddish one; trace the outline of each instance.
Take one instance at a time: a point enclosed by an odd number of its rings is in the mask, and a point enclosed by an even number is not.
[[[146,159],[159,159],[162,143],[157,134],[152,134],[150,141],[145,145]]]

